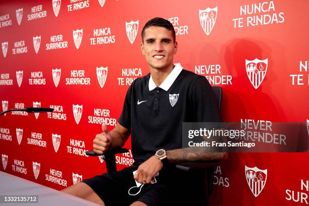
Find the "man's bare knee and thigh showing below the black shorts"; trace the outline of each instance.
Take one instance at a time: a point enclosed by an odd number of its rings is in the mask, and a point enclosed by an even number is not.
[[[91,187],[83,182],[79,182],[75,185],[67,187],[63,189],[62,192],[86,199],[88,201],[92,201],[100,205],[105,205],[102,199],[91,189]]]

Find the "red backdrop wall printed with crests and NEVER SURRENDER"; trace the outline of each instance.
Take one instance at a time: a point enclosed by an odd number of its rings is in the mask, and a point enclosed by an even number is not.
[[[225,121],[307,122],[308,11],[304,0],[2,1],[2,110],[55,112],[0,117],[1,171],[58,190],[105,172],[85,150],[102,123],[113,129],[129,85],[149,72],[140,34],[157,16],[175,27],[175,63],[223,88]],[[216,169],[211,201],[307,204],[308,157],[231,153]],[[116,161],[129,166],[131,151]]]

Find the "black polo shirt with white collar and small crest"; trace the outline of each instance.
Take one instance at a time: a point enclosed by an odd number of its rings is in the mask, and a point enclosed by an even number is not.
[[[182,148],[182,122],[220,122],[217,108],[207,79],[178,63],[159,87],[150,73],[135,79],[118,122],[131,130],[134,161],[144,162],[158,149]]]

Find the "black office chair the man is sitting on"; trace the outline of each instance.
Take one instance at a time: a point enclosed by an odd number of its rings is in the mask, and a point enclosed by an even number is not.
[[[213,87],[214,95],[217,99],[218,110],[221,110],[222,89],[221,87]],[[126,148],[115,148],[105,153],[104,159],[108,173],[116,172],[115,155],[125,153],[129,150]],[[86,151],[88,156],[100,156],[94,151]],[[177,205],[208,205],[208,197],[212,192],[214,170],[220,165],[220,161],[195,161],[185,162],[176,165],[179,172],[183,173],[184,178],[181,182],[181,187],[184,187],[183,194],[177,196],[188,197],[182,198]],[[197,189],[193,189],[197,188]],[[177,200],[175,200],[177,201]],[[175,204],[175,202],[173,203]]]

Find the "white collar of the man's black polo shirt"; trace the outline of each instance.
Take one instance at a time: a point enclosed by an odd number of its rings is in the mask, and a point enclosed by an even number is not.
[[[165,91],[169,90],[169,88],[172,86],[172,84],[174,83],[174,81],[176,80],[176,78],[178,77],[180,72],[182,71],[182,66],[180,65],[180,63],[176,63],[174,65],[175,65],[175,67],[172,70],[172,72],[165,78],[165,80],[159,86],[160,88],[164,89]],[[148,87],[149,87],[149,91],[151,91],[152,89],[155,89],[157,87],[155,82],[153,82],[151,74],[150,74],[150,78],[149,78]]]

